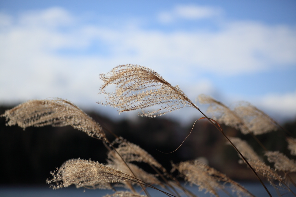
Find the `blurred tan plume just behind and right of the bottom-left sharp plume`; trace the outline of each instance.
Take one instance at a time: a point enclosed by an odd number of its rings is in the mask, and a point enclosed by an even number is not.
[[[134,174],[138,180],[141,180],[144,183],[162,185],[162,183],[155,177],[155,175],[145,172],[135,164],[129,162],[124,163],[114,150],[109,151],[108,164],[106,166],[120,170],[125,174]]]

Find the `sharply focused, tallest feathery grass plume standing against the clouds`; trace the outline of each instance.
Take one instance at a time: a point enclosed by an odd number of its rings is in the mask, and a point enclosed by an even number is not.
[[[118,108],[119,113],[142,109],[141,116],[156,117],[184,107],[198,109],[178,86],[172,86],[144,66],[116,66],[107,74],[100,74],[100,78],[104,82],[101,93],[106,95],[106,101],[100,103]],[[106,92],[104,88],[112,84],[116,85],[115,92]],[[144,111],[152,106],[158,106],[158,109]]]

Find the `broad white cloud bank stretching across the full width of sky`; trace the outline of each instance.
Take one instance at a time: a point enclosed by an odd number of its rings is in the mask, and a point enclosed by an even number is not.
[[[201,17],[194,10],[187,17]],[[181,17],[181,11],[174,12]],[[210,11],[205,13],[210,17]],[[96,95],[99,74],[128,63],[151,67],[173,85],[185,84],[184,91],[194,100],[214,91],[210,82],[195,85],[203,80],[195,77],[204,72],[236,75],[296,64],[296,31],[283,25],[228,22],[215,32],[115,29],[77,22],[61,8],[19,18],[2,14],[0,25],[0,102],[55,96],[79,105],[94,103],[102,99]]]

